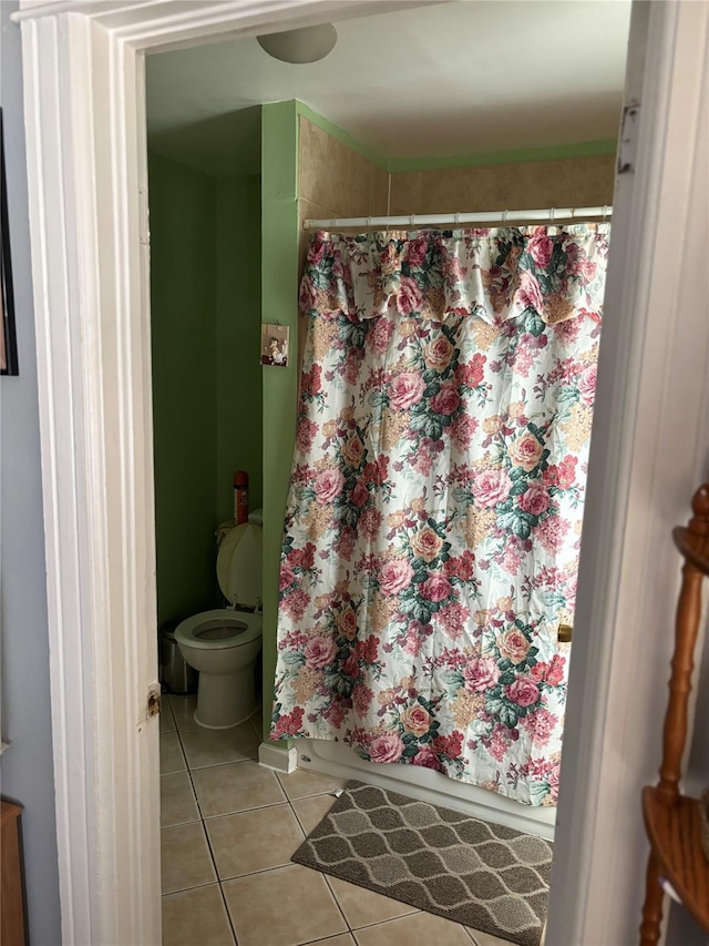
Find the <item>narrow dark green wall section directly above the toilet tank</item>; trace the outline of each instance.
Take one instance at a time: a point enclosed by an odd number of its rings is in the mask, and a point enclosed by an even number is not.
[[[261,181],[217,181],[217,460],[216,520],[234,515],[233,476],[249,475],[249,507],[264,505]]]

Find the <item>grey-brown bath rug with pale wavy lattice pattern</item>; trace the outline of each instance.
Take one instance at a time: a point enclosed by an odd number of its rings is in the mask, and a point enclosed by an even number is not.
[[[552,845],[511,827],[348,782],[292,859],[520,946],[542,937]]]

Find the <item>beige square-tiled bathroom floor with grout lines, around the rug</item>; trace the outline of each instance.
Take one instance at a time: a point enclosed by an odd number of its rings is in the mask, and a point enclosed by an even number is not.
[[[291,864],[342,782],[259,766],[256,726],[199,729],[194,696],[168,696],[163,706],[165,946],[505,946]]]

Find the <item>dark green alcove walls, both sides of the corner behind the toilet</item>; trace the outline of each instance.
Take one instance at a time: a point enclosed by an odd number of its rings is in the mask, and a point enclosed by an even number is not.
[[[215,529],[233,475],[263,505],[260,179],[151,154],[158,623],[219,607]]]

